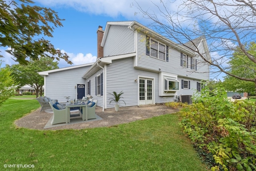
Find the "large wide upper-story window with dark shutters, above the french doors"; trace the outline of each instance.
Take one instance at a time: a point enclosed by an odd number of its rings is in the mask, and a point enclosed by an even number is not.
[[[146,36],[146,55],[168,62],[168,46]]]

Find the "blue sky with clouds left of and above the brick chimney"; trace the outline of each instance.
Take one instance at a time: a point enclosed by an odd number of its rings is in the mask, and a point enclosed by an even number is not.
[[[104,30],[108,21],[136,20],[146,24],[142,16],[134,15],[138,9],[132,7],[133,0],[34,0],[34,2],[35,5],[51,8],[58,12],[60,18],[65,19],[62,21],[63,27],[55,28],[54,37],[45,37],[45,39],[50,40],[55,48],[66,52],[70,56],[72,66],[96,61],[98,26],[102,26]],[[0,47],[1,54],[5,57],[1,59],[4,61],[1,67],[6,64],[18,64],[4,50],[6,49]],[[61,60],[58,66],[63,68],[70,64]]]

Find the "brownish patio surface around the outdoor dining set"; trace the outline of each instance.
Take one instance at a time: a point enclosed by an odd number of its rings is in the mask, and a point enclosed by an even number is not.
[[[58,127],[47,128],[50,130],[57,129],[83,129],[94,127],[110,127],[121,123],[129,123],[136,120],[142,120],[154,116],[165,115],[169,113],[178,112],[179,109],[171,109],[164,105],[154,105],[148,107],[126,107],[120,108],[119,111],[104,111],[96,107],[96,115],[102,118],[98,121],[82,122],[75,124],[66,124]],[[53,113],[41,112],[40,108],[28,115],[15,121],[18,127],[25,127],[29,129],[46,130],[44,126],[52,117]],[[71,121],[72,122],[72,119]]]

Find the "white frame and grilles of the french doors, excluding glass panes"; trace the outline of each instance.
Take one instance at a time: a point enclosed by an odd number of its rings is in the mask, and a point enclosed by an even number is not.
[[[144,99],[141,99],[141,89],[140,89],[140,80],[144,80]],[[151,87],[148,87],[151,82]],[[149,89],[148,89],[149,88]],[[148,96],[148,90],[151,91],[152,98]],[[143,95],[142,95],[143,96]],[[149,97],[149,99],[148,99]],[[155,78],[148,77],[148,76],[138,76],[138,105],[148,105],[148,104],[155,104]]]

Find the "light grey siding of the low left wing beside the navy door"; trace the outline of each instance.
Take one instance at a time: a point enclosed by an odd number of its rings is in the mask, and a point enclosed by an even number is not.
[[[70,99],[76,99],[77,84],[86,84],[86,80],[82,78],[83,74],[90,66],[64,70],[60,72],[52,72],[46,76],[45,96],[51,99],[58,99],[65,102],[64,96],[70,96]]]

